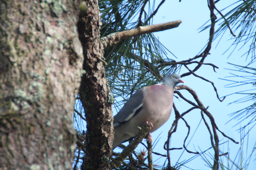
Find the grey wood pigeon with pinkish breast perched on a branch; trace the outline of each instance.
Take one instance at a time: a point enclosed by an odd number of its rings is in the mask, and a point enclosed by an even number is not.
[[[159,83],[137,90],[114,116],[113,148],[135,137],[145,122],[153,124],[150,132],[162,126],[171,115],[173,89],[178,83],[184,83],[180,76],[169,74]]]

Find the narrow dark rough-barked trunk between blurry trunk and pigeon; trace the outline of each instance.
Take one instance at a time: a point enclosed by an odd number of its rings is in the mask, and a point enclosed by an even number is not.
[[[100,15],[97,0],[86,1],[88,11],[79,17],[78,32],[84,48],[80,99],[87,121],[86,152],[83,169],[109,169],[112,155],[112,102],[101,57]]]

